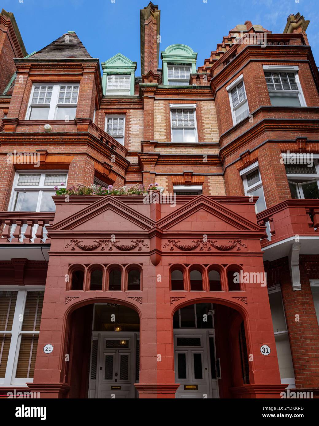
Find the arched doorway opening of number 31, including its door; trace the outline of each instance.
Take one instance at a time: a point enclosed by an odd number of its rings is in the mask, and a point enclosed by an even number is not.
[[[216,303],[183,306],[173,316],[176,398],[231,398],[249,383],[243,317]]]

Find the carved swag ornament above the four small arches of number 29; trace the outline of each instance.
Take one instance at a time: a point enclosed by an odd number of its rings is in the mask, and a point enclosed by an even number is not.
[[[81,244],[83,240],[78,239],[71,239],[69,243],[65,246],[65,248],[72,246],[71,250],[74,251],[75,247],[80,248],[81,250],[85,251],[92,251],[96,250],[97,248],[101,247],[101,251],[109,250],[112,251],[113,247],[117,248],[121,251],[130,251],[134,248],[138,247],[138,251],[142,251],[142,246],[145,248],[148,248],[148,244],[144,242],[143,239],[136,239],[131,240],[132,244],[119,244],[119,240],[113,240],[113,239],[99,239],[94,240],[93,243],[95,244]]]

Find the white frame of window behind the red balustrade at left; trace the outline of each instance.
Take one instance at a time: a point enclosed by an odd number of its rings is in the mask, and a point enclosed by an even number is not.
[[[41,174],[40,177],[40,182],[38,185],[28,185],[28,186],[18,186],[18,180],[19,180],[19,175],[20,174]],[[14,176],[14,181],[13,181],[13,185],[12,185],[12,192],[11,192],[11,197],[10,197],[10,202],[9,202],[9,211],[20,211],[23,212],[24,210],[13,210],[14,209],[14,203],[15,203],[15,199],[16,199],[16,193],[17,192],[39,192],[39,197],[38,197],[38,203],[37,203],[37,207],[35,212],[39,212],[40,210],[40,206],[41,206],[41,202],[42,202],[42,194],[44,192],[54,192],[54,187],[55,185],[44,185],[44,179],[45,179],[45,175],[46,174],[60,174],[60,173],[64,173],[67,175],[68,178],[68,172],[67,170],[17,170]],[[64,187],[67,187],[67,178],[66,181],[64,182]],[[61,185],[56,185],[58,187],[60,187]],[[29,211],[29,210],[28,210]],[[42,210],[43,211],[43,210]]]

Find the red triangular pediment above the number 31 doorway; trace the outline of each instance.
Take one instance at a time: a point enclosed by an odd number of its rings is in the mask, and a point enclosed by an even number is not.
[[[260,232],[261,227],[228,209],[223,204],[200,195],[157,222],[165,231]]]

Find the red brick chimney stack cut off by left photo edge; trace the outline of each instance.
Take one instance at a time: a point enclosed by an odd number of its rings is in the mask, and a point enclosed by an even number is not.
[[[0,12],[0,93],[12,79],[17,70],[13,58],[27,55],[20,31],[12,12]]]

